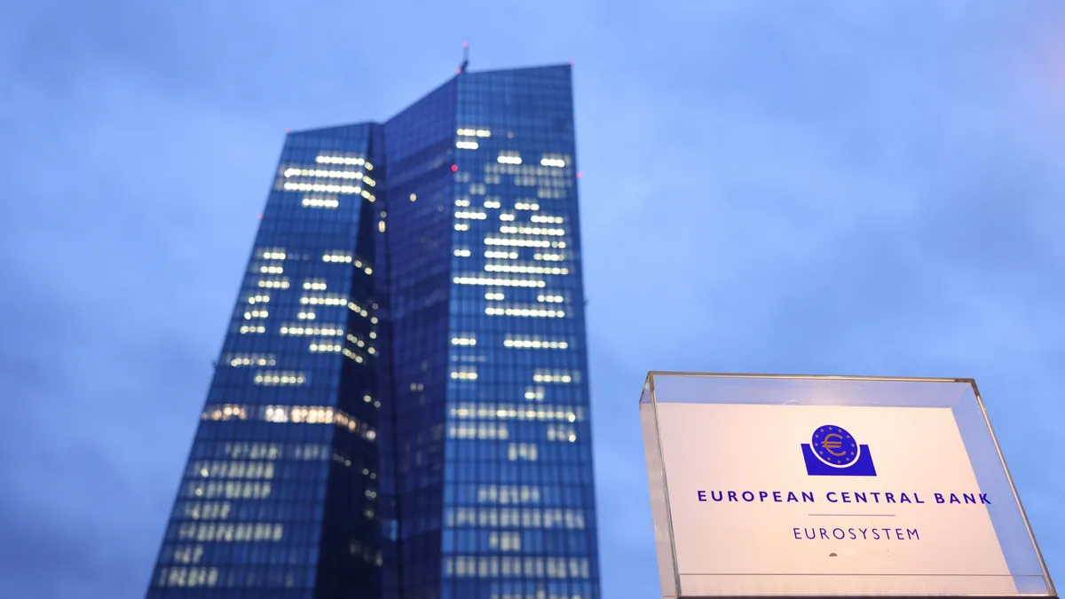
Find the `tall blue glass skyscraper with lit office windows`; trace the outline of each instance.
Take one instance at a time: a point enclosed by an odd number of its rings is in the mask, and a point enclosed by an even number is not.
[[[149,599],[597,599],[571,69],[290,133]]]

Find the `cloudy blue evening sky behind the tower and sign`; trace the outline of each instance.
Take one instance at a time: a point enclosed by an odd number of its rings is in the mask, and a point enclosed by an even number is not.
[[[575,61],[604,597],[649,369],[972,376],[1065,567],[1065,5],[6,2],[0,596],[143,596],[286,128]]]

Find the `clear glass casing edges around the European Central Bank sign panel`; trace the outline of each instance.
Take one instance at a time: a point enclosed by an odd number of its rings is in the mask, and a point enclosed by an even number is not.
[[[854,396],[862,398],[862,401],[855,403]],[[943,592],[929,592],[925,594],[900,594],[872,590],[857,594],[847,593],[846,596],[880,598],[903,596],[1058,597],[974,379],[650,371],[640,396],[640,421],[651,491],[652,517],[655,527],[658,573],[663,599],[754,596],[785,599],[839,595],[831,590],[819,592],[816,588],[817,583],[808,585],[800,593],[793,590],[767,593],[765,585],[763,585],[761,590],[751,594],[743,589],[736,592],[736,588],[742,588],[742,585],[739,587],[734,585],[733,590],[727,594],[706,593],[705,586],[692,584],[693,579],[690,578],[702,574],[682,574],[679,572],[673,509],[669,497],[668,474],[670,469],[665,462],[659,428],[659,406],[663,403],[951,407],[955,418],[964,420],[964,426],[962,421],[958,422],[958,431],[963,442],[965,442],[966,457],[977,473],[981,489],[984,488],[986,481],[990,481],[997,485],[997,489],[1002,490],[998,493],[999,496],[1005,496],[1006,499],[1012,498],[1012,501],[999,502],[1001,507],[997,504],[994,507],[994,514],[992,514],[992,507],[988,507],[987,512],[993,521],[998,515],[998,521],[994,523],[995,538],[1002,550],[1009,568],[1009,574],[996,576],[1012,579],[1016,584],[1017,593],[945,594]],[[974,459],[973,455],[978,455],[980,460]],[[768,574],[737,576],[760,577]],[[754,579],[752,579],[753,581]],[[759,585],[752,584],[751,586],[754,588]],[[693,594],[686,588],[701,588],[701,590]]]

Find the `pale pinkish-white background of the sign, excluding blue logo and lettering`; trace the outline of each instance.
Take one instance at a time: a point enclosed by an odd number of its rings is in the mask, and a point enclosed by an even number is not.
[[[935,502],[981,492],[949,408],[658,403],[657,417],[685,596],[1017,594],[987,508]],[[806,474],[801,446],[826,424],[869,446],[875,476]],[[730,490],[755,501],[712,501]],[[763,490],[815,502],[758,501]],[[829,491],[870,503],[831,503]],[[924,503],[872,503],[869,491]],[[889,528],[892,539],[797,539],[796,528]],[[920,539],[895,540],[895,529]]]

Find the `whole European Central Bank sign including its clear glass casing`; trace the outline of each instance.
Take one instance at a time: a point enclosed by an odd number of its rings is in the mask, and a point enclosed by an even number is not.
[[[1053,596],[969,381],[652,373],[663,597]]]

